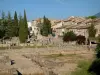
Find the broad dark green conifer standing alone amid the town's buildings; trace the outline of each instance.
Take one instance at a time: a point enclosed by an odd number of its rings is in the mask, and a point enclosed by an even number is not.
[[[43,17],[43,24],[42,24],[42,27],[40,29],[40,33],[41,35],[43,36],[48,36],[49,34],[52,33],[51,31],[51,23],[50,21],[48,20],[48,18],[46,18],[45,16]]]

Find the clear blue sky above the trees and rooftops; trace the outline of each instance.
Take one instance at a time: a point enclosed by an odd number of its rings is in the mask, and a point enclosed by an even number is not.
[[[4,11],[15,11],[34,20],[44,15],[50,19],[66,19],[70,16],[90,16],[100,12],[100,0],[0,0],[0,16]]]

